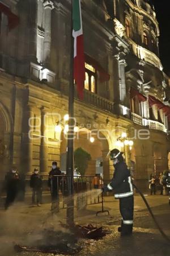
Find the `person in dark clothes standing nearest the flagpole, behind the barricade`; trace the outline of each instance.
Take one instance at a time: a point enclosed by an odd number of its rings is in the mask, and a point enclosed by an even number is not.
[[[59,184],[61,181],[61,171],[57,167],[57,162],[52,163],[52,170],[49,172],[48,186],[52,196],[52,210],[59,211]]]

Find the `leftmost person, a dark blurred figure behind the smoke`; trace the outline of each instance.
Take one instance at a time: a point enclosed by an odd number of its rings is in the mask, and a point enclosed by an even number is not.
[[[6,201],[5,209],[7,209],[12,203],[14,203],[19,191],[19,175],[16,171],[16,167],[12,167],[10,172],[7,172],[5,176],[5,188],[6,188]]]

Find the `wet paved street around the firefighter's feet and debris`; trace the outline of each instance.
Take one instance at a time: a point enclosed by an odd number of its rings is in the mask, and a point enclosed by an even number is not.
[[[168,196],[147,196],[148,203],[162,226],[164,232],[170,238],[170,207]],[[75,221],[80,225],[87,223],[102,225],[109,230],[109,234],[103,239],[94,241],[80,241],[83,246],[79,255],[156,255],[164,256],[170,254],[170,243],[156,230],[150,214],[139,196],[135,196],[134,213],[134,233],[129,238],[120,238],[117,227],[120,224],[120,213],[118,210],[118,201],[112,196],[105,197],[104,208],[108,209],[110,216],[100,214],[96,217],[96,211],[100,210],[101,205],[92,205],[86,210],[75,210]],[[15,205],[7,211],[0,211],[0,243],[1,256],[13,255],[45,255],[41,253],[15,253],[13,242],[23,245],[32,245],[43,236],[44,229],[50,229],[54,225],[56,230],[68,232],[59,226],[59,221],[64,221],[65,210],[61,210],[57,216],[51,216],[49,213],[50,204],[44,204],[41,207],[30,207],[28,205]]]

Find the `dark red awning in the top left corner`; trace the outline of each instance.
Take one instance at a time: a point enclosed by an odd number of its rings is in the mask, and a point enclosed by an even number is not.
[[[9,30],[15,28],[19,24],[19,17],[11,12],[10,8],[3,3],[0,3],[0,12],[4,13],[8,17]]]

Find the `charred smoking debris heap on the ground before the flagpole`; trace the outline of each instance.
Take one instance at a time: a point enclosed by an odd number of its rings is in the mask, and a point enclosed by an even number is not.
[[[68,228],[65,224],[62,224],[62,226]],[[103,230],[102,227],[97,228],[91,224],[88,224],[87,226],[75,225],[68,230],[69,232],[66,233],[44,229],[44,238],[36,240],[32,246],[15,244],[14,249],[17,252],[33,251],[39,253],[75,255],[82,250],[82,246],[78,244],[79,238],[98,240],[108,233],[106,230]]]

